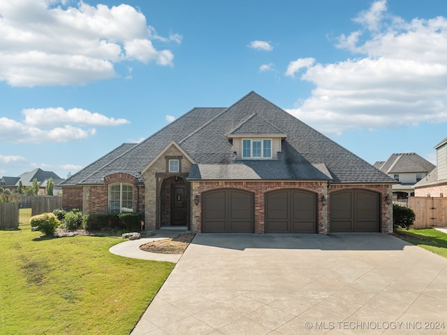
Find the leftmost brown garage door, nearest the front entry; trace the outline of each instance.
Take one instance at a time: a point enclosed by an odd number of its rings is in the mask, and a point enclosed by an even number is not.
[[[203,193],[202,231],[204,233],[254,232],[254,195],[225,189]]]

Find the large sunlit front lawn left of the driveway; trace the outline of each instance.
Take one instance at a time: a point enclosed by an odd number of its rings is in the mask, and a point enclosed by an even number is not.
[[[108,250],[123,240],[0,231],[0,334],[129,334],[174,264]]]

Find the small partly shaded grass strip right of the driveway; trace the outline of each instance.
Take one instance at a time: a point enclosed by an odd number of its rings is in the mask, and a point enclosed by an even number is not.
[[[420,248],[427,249],[435,254],[447,258],[447,234],[436,229],[397,229],[396,234]]]

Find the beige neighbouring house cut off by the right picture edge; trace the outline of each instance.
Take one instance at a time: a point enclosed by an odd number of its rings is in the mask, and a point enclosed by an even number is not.
[[[447,137],[434,148],[437,167],[414,185],[416,197],[447,197]]]

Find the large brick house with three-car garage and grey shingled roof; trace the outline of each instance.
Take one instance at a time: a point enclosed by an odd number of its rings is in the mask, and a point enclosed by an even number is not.
[[[144,213],[147,229],[319,233],[393,229],[385,173],[255,92],[193,108],[61,184],[64,208]]]

